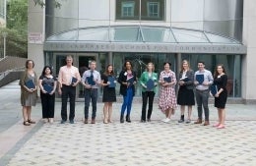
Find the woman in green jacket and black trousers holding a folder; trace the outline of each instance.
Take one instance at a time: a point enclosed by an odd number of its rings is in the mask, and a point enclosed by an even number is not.
[[[143,72],[140,78],[142,85],[142,116],[141,122],[146,122],[146,109],[147,102],[149,100],[149,108],[147,121],[151,121],[151,115],[153,110],[154,96],[156,94],[156,86],[158,85],[158,74],[154,72],[155,66],[152,62],[148,63],[147,71]]]

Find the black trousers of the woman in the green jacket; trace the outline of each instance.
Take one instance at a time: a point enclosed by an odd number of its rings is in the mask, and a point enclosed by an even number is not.
[[[142,92],[142,117],[141,117],[141,120],[143,120],[143,121],[146,121],[146,109],[147,109],[148,99],[149,99],[149,109],[148,109],[147,118],[151,119],[154,96],[155,96],[154,91]]]

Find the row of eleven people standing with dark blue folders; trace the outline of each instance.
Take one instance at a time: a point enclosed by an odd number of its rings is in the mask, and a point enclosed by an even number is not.
[[[73,66],[72,56],[66,57],[66,65],[59,70],[58,79],[52,75],[52,69],[45,66],[37,82],[37,76],[33,71],[34,63],[32,60],[26,62],[26,71],[21,77],[21,103],[23,106],[24,125],[30,126],[35,122],[32,121],[32,106],[35,105],[37,96],[37,86],[40,88],[40,99],[42,105],[42,118],[52,123],[54,117],[55,91],[61,95],[61,124],[69,119],[74,124],[75,118],[75,99],[76,86],[82,83],[85,88],[85,124],[89,123],[89,107],[92,101],[92,119],[91,123],[96,123],[96,101],[97,89],[103,87],[102,102],[103,106],[103,123],[111,123],[112,103],[116,101],[115,84],[120,83],[120,94],[123,96],[123,103],[120,109],[120,123],[125,121],[130,123],[132,101],[135,95],[135,84],[140,83],[142,86],[142,115],[141,122],[151,122],[153,112],[154,97],[157,92],[157,86],[160,85],[159,108],[165,115],[162,120],[164,123],[170,121],[171,115],[174,114],[177,105],[180,105],[181,116],[179,123],[190,123],[192,106],[195,105],[195,97],[198,109],[198,119],[194,124],[203,123],[203,108],[205,114],[204,126],[210,125],[208,99],[210,89],[214,85],[217,87],[215,96],[215,107],[218,109],[219,122],[214,125],[218,129],[224,129],[225,103],[227,98],[226,83],[227,76],[223,65],[218,65],[214,77],[212,73],[205,69],[204,62],[198,62],[198,71],[194,73],[189,67],[187,60],[182,61],[182,67],[176,79],[176,75],[171,71],[171,64],[165,62],[163,71],[160,72],[160,78],[155,73],[155,66],[152,62],[148,63],[147,70],[143,72],[138,79],[135,71],[132,69],[131,61],[124,63],[123,70],[120,72],[118,79],[115,78],[112,65],[106,67],[105,72],[100,75],[96,71],[96,61],[90,62],[90,70],[84,72],[82,78],[78,68]],[[32,82],[32,83],[30,83]],[[176,97],[175,86],[178,83],[178,94]],[[194,97],[195,96],[195,97]],[[67,102],[70,102],[70,113],[67,116]],[[147,105],[148,112],[147,112]],[[185,107],[188,108],[188,117],[185,121]],[[126,111],[126,116],[124,115]]]

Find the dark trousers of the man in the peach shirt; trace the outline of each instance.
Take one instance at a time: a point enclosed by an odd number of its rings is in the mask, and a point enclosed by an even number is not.
[[[62,95],[61,95],[61,118],[64,121],[67,121],[67,104],[69,98],[70,104],[70,113],[69,120],[74,120],[75,118],[75,100],[76,100],[76,86],[72,85],[62,85]]]

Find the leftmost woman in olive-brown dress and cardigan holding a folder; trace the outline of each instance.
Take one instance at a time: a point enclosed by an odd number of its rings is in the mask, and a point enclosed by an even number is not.
[[[37,98],[37,76],[33,71],[34,63],[32,60],[26,61],[26,70],[20,79],[21,85],[21,104],[23,106],[24,125],[35,124],[32,121],[32,106],[36,104]]]

